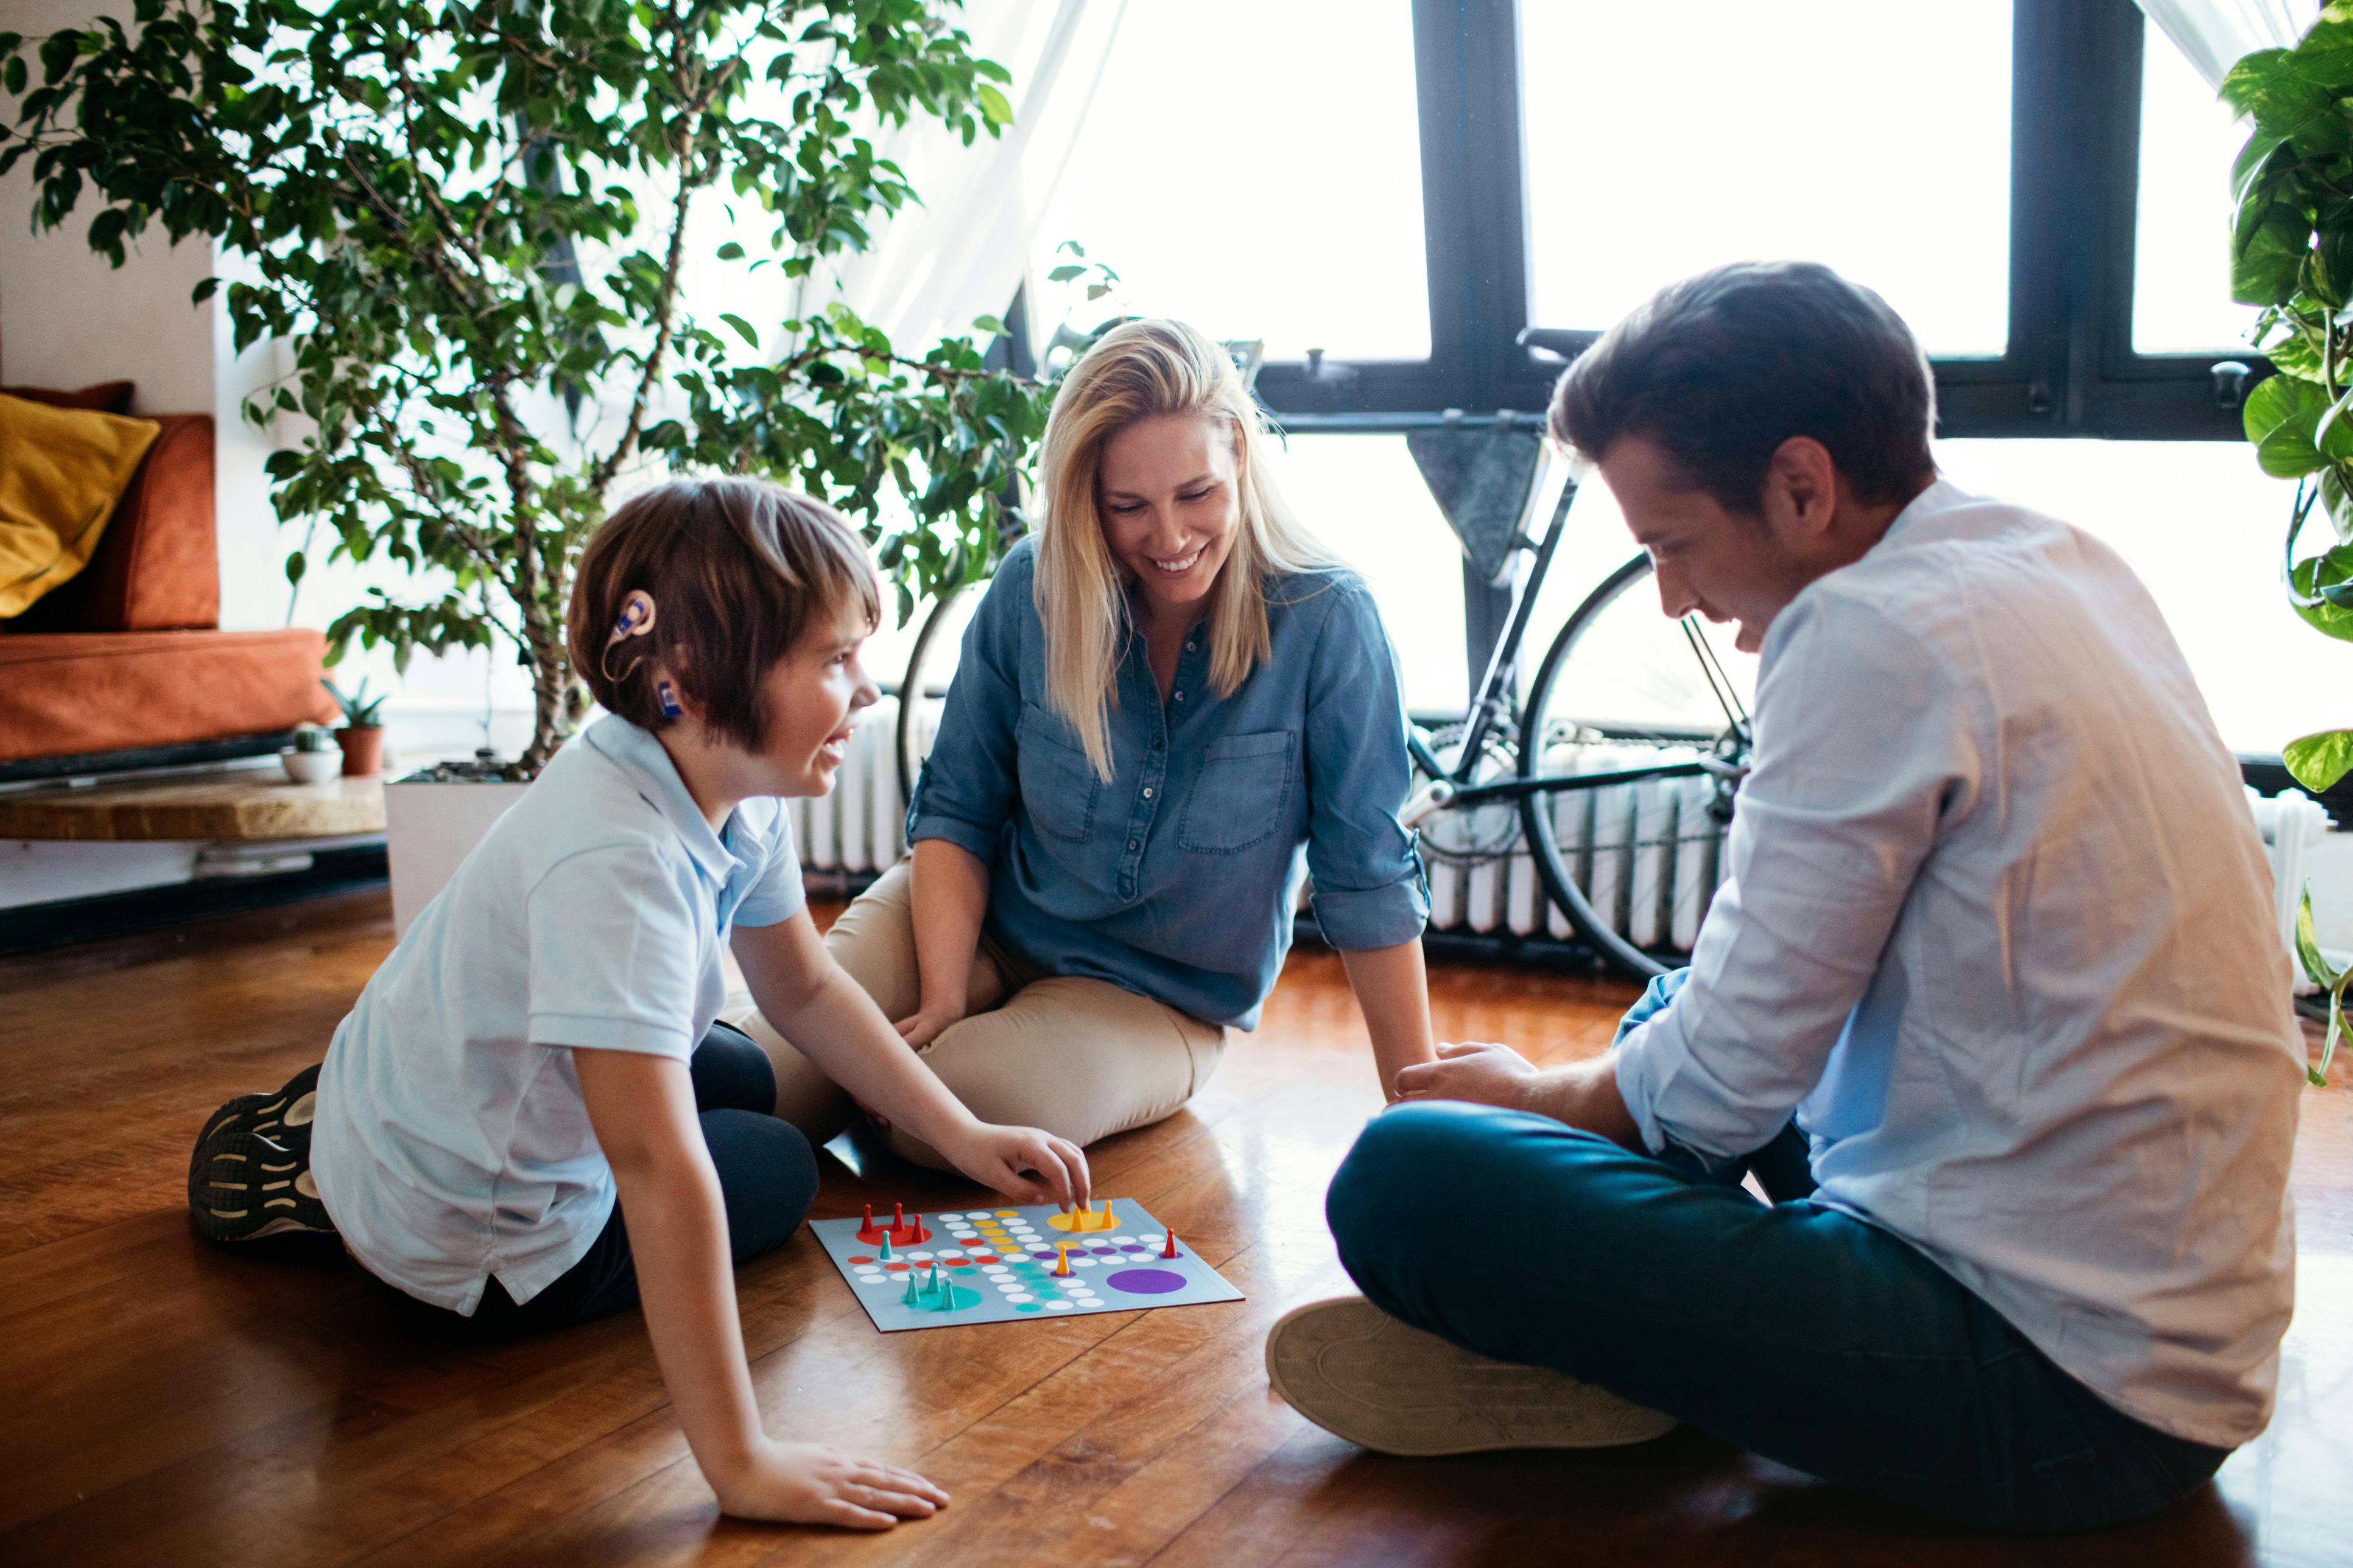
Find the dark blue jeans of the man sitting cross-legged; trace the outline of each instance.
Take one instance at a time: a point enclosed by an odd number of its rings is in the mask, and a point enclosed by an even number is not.
[[[1680,978],[1654,980],[1619,1032]],[[1748,1171],[1772,1204],[1739,1187]],[[1365,1128],[1327,1213],[1391,1316],[1946,1519],[2122,1523],[2228,1458],[2106,1403],[1915,1246],[1809,1192],[1795,1126],[1711,1173],[1548,1117],[1428,1103]]]

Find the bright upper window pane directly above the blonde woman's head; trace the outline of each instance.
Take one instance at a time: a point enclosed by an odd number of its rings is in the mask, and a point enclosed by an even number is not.
[[[1431,353],[1407,0],[1129,5],[1033,275],[1078,240],[1118,306],[1275,360]],[[1042,322],[1085,320],[1040,289]]]

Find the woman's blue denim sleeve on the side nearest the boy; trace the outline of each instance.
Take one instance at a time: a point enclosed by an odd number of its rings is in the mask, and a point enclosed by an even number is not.
[[[1007,557],[965,628],[939,736],[906,806],[908,844],[946,839],[984,863],[998,856],[998,839],[1021,799],[1014,731],[1021,719],[1028,564],[1026,548]]]

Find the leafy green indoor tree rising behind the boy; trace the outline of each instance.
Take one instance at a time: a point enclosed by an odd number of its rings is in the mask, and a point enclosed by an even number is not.
[[[287,578],[320,548],[409,569],[334,618],[329,661],[515,646],[534,726],[496,773],[527,780],[586,710],[562,621],[616,491],[795,484],[866,522],[901,614],[1019,534],[1049,388],[816,303],[915,200],[880,129],[1012,118],[955,9],[136,0],[129,28],[0,31],[0,172],[31,160],[42,228],[96,200],[118,266],[151,226],[233,259],[198,296],[292,367],[245,407],[282,440]]]

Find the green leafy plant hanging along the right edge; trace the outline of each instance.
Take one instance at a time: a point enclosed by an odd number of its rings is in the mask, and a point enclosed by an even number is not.
[[[2332,0],[2297,47],[2238,61],[2221,96],[2249,122],[2231,167],[2231,296],[2261,308],[2254,346],[2278,371],[2247,395],[2247,440],[2264,473],[2297,482],[2282,550],[2289,604],[2313,630],[2353,642],[2353,5]],[[2315,515],[2332,543],[2299,559]],[[2282,759],[2306,790],[2327,790],[2353,771],[2353,729],[2299,736]],[[2308,886],[2297,957],[2329,997],[2320,1067],[2308,1070],[2325,1084],[2353,969],[2320,952]]]

